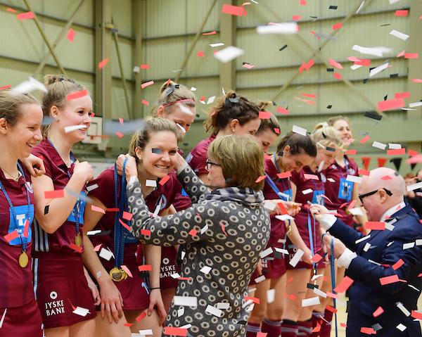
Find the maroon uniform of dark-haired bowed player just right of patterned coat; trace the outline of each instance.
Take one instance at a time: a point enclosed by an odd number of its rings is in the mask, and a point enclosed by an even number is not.
[[[283,199],[286,201],[292,200],[292,189],[290,185],[290,178],[279,178],[277,174],[281,173],[280,167],[274,158],[275,165],[271,160],[271,156],[267,156],[264,160],[265,174],[267,175],[264,184],[264,198],[266,200],[271,199]],[[269,182],[271,179],[271,182]],[[279,192],[283,193],[281,196]],[[277,252],[275,248],[286,248],[286,224],[276,219],[276,215],[270,215],[271,219],[271,232],[269,235],[269,241],[267,248],[271,248],[273,253],[268,257],[262,259],[262,274],[266,279],[278,279],[279,277],[286,274],[286,262],[284,255]],[[265,248],[265,249],[267,249]],[[257,270],[250,279],[250,284],[255,284],[255,279],[259,277]]]

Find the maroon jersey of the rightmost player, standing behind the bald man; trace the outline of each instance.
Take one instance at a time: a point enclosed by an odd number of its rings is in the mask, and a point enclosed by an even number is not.
[[[326,173],[326,196],[332,201],[332,203],[327,203],[326,207],[330,210],[337,210],[340,214],[341,220],[345,224],[352,226],[353,224],[353,215],[346,214],[346,208],[350,201],[352,201],[352,190],[353,182],[347,182],[347,175],[353,175],[359,177],[359,168],[354,160],[350,159],[345,155],[345,167],[341,167],[338,163],[334,162],[330,165]],[[333,182],[334,181],[334,182]],[[344,205],[340,208],[340,205]]]

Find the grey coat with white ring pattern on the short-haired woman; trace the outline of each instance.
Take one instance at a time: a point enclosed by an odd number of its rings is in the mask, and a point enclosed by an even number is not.
[[[185,306],[178,315],[181,307],[173,301],[166,325],[188,327],[194,337],[245,336],[245,296],[270,231],[262,192],[230,188],[236,193],[210,193],[188,165],[178,178],[193,205],[165,217],[151,217],[137,179],[127,186],[134,235],[141,243],[186,244],[181,276],[190,279],[179,281],[176,295],[196,297],[198,305]],[[141,235],[141,229],[151,230],[151,236]],[[210,272],[201,271],[203,267],[210,267]],[[218,303],[226,304],[220,310]]]

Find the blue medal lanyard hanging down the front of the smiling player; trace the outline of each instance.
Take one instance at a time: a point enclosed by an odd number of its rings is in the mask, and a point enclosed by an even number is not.
[[[120,183],[120,194],[118,193],[119,177],[117,175],[117,165],[114,170],[114,181],[115,181],[115,208],[119,208],[119,211],[115,214],[115,228],[114,228],[114,244],[115,244],[115,267],[120,267],[123,264],[124,257],[124,239],[129,234],[129,231],[124,229],[119,223],[119,219],[122,219],[123,212],[128,209],[127,205],[127,192],[126,192],[126,174],[124,169],[126,168],[127,158],[124,159],[123,172]],[[125,220],[122,219],[124,222]]]

